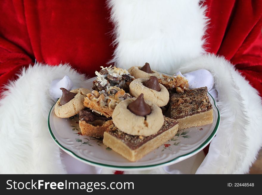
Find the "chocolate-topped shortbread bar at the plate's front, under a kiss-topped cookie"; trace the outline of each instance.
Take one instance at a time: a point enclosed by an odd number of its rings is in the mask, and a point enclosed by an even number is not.
[[[147,137],[126,134],[112,123],[104,133],[103,143],[128,160],[137,161],[174,137],[177,129],[178,122],[168,117],[157,133]]]

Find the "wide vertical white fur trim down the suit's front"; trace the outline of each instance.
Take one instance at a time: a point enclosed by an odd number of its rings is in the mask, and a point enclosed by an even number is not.
[[[205,7],[199,0],[110,0],[117,45],[110,61],[122,68],[143,66],[174,72],[205,53]]]

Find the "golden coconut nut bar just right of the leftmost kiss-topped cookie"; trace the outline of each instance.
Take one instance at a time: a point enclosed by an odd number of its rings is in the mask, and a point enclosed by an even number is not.
[[[99,92],[93,90],[91,93],[88,93],[84,100],[84,106],[100,115],[111,117],[116,105],[129,98],[132,98],[132,96],[119,87],[106,87],[106,90]]]

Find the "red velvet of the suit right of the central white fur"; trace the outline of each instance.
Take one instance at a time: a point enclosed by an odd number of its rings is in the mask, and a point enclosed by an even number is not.
[[[235,64],[262,94],[262,1],[208,0],[210,25],[205,47]]]

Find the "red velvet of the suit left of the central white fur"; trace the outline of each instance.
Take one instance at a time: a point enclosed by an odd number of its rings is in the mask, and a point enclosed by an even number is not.
[[[0,1],[0,85],[35,59],[95,76],[113,54],[105,1]]]

